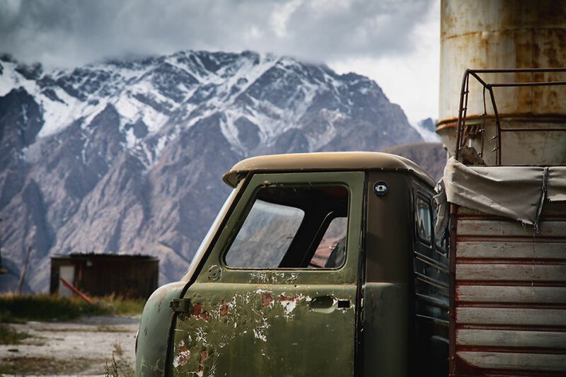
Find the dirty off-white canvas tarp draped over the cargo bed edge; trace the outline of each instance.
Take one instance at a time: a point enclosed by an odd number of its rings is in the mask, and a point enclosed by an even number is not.
[[[566,201],[566,166],[466,166],[451,157],[437,191],[437,226],[448,221],[446,202],[536,226],[545,200]]]

